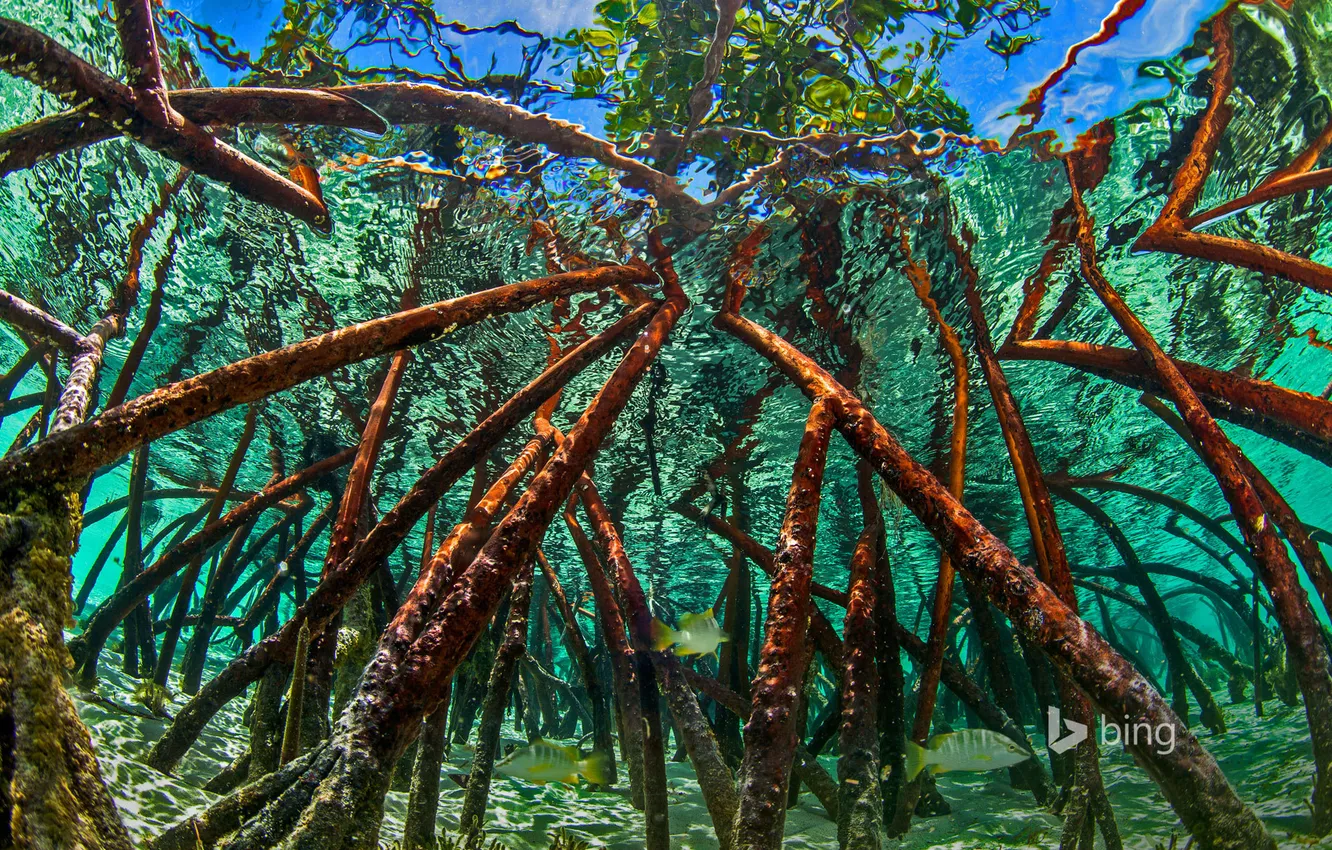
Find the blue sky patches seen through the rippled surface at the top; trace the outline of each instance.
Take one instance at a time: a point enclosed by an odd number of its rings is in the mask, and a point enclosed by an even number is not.
[[[1103,117],[1118,115],[1134,103],[1164,96],[1168,81],[1142,75],[1142,65],[1179,53],[1201,21],[1223,4],[1224,0],[1150,0],[1116,39],[1079,55],[1064,83],[1051,91],[1042,128],[1055,129],[1068,143]],[[181,0],[174,5],[252,51],[261,47],[282,8],[281,0]],[[434,8],[441,19],[472,27],[515,20],[523,28],[558,35],[590,24],[594,5],[595,0],[525,4],[436,0]],[[1006,141],[1019,124],[1012,113],[1027,92],[1059,67],[1072,44],[1099,29],[1115,0],[1047,0],[1047,5],[1050,16],[1034,31],[1039,40],[1007,63],[986,48],[988,29],[958,43],[944,59],[944,85],[968,111],[978,135]],[[497,71],[514,71],[519,44],[514,36],[469,36],[461,40],[458,55],[472,75],[485,73],[492,57]],[[380,55],[361,56],[361,61],[389,59],[386,51],[376,52]],[[401,56],[396,59],[402,63]],[[224,68],[208,63],[205,67],[214,84],[228,81]],[[594,132],[601,129],[599,107],[591,101],[553,100],[542,107],[558,117],[586,124]]]

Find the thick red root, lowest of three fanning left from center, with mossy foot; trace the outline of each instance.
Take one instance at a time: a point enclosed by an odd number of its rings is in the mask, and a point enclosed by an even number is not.
[[[332,758],[328,773],[314,781],[313,789],[309,777],[320,771],[286,777],[274,789],[272,802],[241,815],[244,825],[224,847],[258,850],[273,835],[286,835],[284,846],[290,850],[360,849],[377,841],[384,794],[398,758],[418,734],[422,718],[438,709],[444,683],[494,616],[517,572],[530,564],[537,542],[687,305],[673,277],[666,277],[666,294],[563,444],[453,582],[452,592],[432,606],[426,604],[434,598],[429,585],[438,577],[428,574],[417,581],[385,629],[329,743],[310,754],[312,763],[320,766]],[[422,505],[421,514],[426,508]],[[368,542],[362,541],[349,560]],[[213,810],[234,809],[236,798],[245,794],[246,789],[241,789]]]

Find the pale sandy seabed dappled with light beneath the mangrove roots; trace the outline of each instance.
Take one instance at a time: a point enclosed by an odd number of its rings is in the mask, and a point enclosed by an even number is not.
[[[245,701],[233,701],[208,725],[184,759],[178,777],[165,777],[143,762],[152,742],[165,730],[165,722],[137,715],[144,709],[132,699],[135,681],[120,673],[120,658],[115,653],[105,653],[100,670],[103,678],[96,698],[79,693],[73,695],[92,730],[104,777],[121,817],[131,835],[147,842],[217,799],[216,794],[200,786],[245,747],[248,730],[241,723]],[[113,706],[125,706],[127,710]],[[180,702],[168,705],[166,711],[174,713],[178,707]],[[1275,701],[1267,703],[1267,717],[1257,719],[1251,705],[1228,706],[1225,718],[1229,731],[1212,735],[1203,730],[1203,745],[1217,758],[1240,795],[1267,822],[1283,849],[1332,847],[1332,837],[1320,842],[1304,834],[1311,822],[1307,799],[1313,781],[1304,711]],[[464,774],[470,757],[461,751],[456,754],[458,758],[450,758],[445,771]],[[836,759],[825,757],[822,761],[835,775]],[[1119,747],[1107,747],[1102,770],[1126,849],[1169,849],[1172,837],[1177,838],[1179,850],[1188,845],[1187,833],[1172,810],[1131,757]],[[671,798],[671,847],[715,849],[711,821],[689,763],[670,762],[666,773]],[[623,766],[621,775],[626,775]],[[1030,794],[1014,790],[1006,771],[942,775],[939,791],[952,806],[952,814],[916,819],[904,841],[888,846],[903,850],[1059,846],[1060,821],[1036,806]],[[440,829],[452,831],[457,827],[462,789],[445,778],[441,793]],[[381,835],[386,845],[402,834],[406,801],[405,793],[389,793]],[[537,786],[497,777],[490,791],[489,817],[488,835],[511,850],[541,850],[547,846],[549,834],[558,829],[594,847],[633,850],[643,846],[642,813],[630,805],[626,791],[594,793],[581,786]],[[836,825],[807,791],[787,814],[785,846],[836,847]]]

